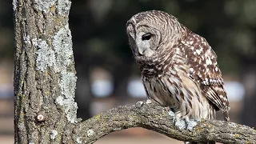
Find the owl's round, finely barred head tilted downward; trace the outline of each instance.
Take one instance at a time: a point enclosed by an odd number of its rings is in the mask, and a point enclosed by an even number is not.
[[[181,38],[182,25],[170,14],[150,10],[130,18],[126,32],[135,58],[150,59]]]

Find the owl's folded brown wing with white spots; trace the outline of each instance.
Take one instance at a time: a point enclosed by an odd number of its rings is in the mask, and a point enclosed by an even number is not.
[[[214,50],[205,38],[192,32],[181,43],[190,66],[190,78],[198,83],[203,95],[222,110],[224,118],[228,119],[229,102],[223,88],[222,72],[218,68]]]

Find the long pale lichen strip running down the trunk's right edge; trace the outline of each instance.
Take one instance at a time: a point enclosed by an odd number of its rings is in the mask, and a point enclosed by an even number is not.
[[[66,25],[53,37],[52,42],[54,52],[55,52],[55,63],[54,63],[54,72],[61,74],[61,81],[59,86],[62,91],[62,96],[59,96],[56,99],[56,102],[64,106],[66,113],[66,118],[71,123],[77,122],[77,103],[74,102],[74,92],[76,87],[77,77],[74,72],[68,72],[67,67],[72,62],[72,37],[69,26]]]

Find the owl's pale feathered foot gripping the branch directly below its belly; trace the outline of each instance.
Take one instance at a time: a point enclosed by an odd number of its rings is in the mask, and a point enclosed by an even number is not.
[[[179,114],[175,114],[172,110],[169,111],[169,115],[174,118],[174,126],[176,126],[179,130],[192,130],[199,122],[198,120],[190,119],[188,117],[182,118],[179,116]]]

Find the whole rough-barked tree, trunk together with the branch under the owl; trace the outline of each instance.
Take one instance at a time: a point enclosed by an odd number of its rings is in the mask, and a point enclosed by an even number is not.
[[[191,130],[174,126],[161,106],[118,106],[84,122],[76,116],[76,76],[70,0],[14,0],[15,143],[93,143],[106,134],[143,127],[182,141],[256,143],[256,130],[233,122],[201,120]]]

